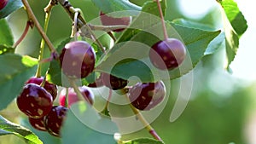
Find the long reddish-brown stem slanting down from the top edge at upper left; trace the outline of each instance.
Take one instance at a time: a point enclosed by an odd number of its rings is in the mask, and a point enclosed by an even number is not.
[[[33,21],[33,23],[35,24],[35,26],[38,29],[38,32],[40,33],[40,35],[44,38],[45,43],[47,43],[49,50],[53,53],[56,52],[54,45],[50,42],[49,37],[47,37],[47,35],[44,33],[44,30],[42,28],[42,26],[40,26],[38,19],[36,18],[35,14],[33,13],[29,3],[27,2],[27,0],[21,0],[24,7],[26,8],[26,12],[28,14],[28,17],[30,20]]]

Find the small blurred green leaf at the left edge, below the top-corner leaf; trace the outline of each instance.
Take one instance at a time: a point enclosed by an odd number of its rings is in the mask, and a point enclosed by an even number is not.
[[[14,37],[5,19],[0,20],[0,30],[0,44],[12,46],[14,44]]]

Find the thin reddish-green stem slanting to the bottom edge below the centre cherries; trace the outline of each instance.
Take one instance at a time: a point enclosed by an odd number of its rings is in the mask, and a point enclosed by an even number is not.
[[[127,98],[128,101],[129,98],[128,96],[126,95],[125,96]],[[156,133],[156,131],[153,129],[153,127],[148,124],[148,121],[143,117],[143,114],[137,110],[136,107],[133,107],[132,104],[130,103],[130,107],[131,107],[131,110],[136,114],[137,118],[143,123],[143,125],[146,127],[146,129],[148,130],[148,133],[150,135],[152,135],[154,137],[155,140],[158,140],[158,141],[162,141],[162,139],[160,138],[160,136]]]

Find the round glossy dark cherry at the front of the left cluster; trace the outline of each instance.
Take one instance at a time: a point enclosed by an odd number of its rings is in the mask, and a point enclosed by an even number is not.
[[[38,84],[26,84],[17,97],[17,106],[31,118],[42,118],[51,109],[52,96]]]

